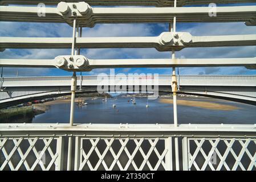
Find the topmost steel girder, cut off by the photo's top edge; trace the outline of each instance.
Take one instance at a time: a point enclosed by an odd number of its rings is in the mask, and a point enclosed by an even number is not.
[[[2,0],[0,5],[57,5],[62,0]],[[65,0],[65,2],[83,2],[86,1],[91,6],[173,6],[174,0]],[[177,6],[185,5],[207,5],[209,3],[227,4],[227,3],[247,3],[255,0],[177,0]]]

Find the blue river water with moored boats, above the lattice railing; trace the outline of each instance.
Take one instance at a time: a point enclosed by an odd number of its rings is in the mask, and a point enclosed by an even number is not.
[[[86,98],[85,98],[86,99]],[[102,98],[89,100],[88,105],[75,106],[75,123],[173,123],[173,105],[163,104],[160,99],[148,100],[137,97],[136,105],[128,100],[129,97],[119,97],[117,100],[109,98],[103,102]],[[205,109],[178,105],[178,123],[256,123],[256,106],[241,104],[212,98],[178,98],[182,100],[206,101],[238,107],[234,110]],[[116,108],[112,105],[115,104]],[[70,118],[70,102],[48,105],[48,110],[32,118],[32,123],[68,123]]]

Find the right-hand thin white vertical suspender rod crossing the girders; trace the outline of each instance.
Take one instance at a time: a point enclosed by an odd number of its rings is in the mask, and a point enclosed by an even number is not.
[[[177,0],[174,0],[174,7],[177,6]],[[176,32],[176,16],[173,17],[173,27],[169,28],[170,31]],[[172,59],[175,59],[175,51],[172,50]],[[177,119],[177,78],[175,67],[172,69],[172,92],[173,92],[173,120],[174,127],[178,127],[178,119]],[[175,165],[176,171],[180,170],[179,157],[178,157],[178,138],[174,138],[174,148],[175,148]]]

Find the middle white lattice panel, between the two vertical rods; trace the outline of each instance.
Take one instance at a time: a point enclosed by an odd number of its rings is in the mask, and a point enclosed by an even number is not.
[[[170,138],[76,138],[78,170],[166,170]]]

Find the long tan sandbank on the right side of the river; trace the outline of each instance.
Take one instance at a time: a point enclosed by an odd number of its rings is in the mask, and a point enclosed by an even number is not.
[[[163,104],[173,104],[172,99],[161,98],[160,102]],[[183,106],[192,106],[192,107],[201,107],[204,109],[211,109],[211,110],[237,110],[240,109],[237,106],[226,105],[226,104],[217,104],[214,102],[207,102],[207,101],[193,101],[193,100],[177,100],[177,105]]]

